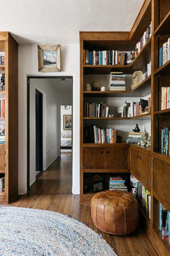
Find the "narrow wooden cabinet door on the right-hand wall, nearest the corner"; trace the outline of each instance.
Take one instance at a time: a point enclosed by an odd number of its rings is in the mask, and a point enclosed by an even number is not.
[[[130,149],[130,171],[135,176],[139,177],[139,151],[136,149]]]

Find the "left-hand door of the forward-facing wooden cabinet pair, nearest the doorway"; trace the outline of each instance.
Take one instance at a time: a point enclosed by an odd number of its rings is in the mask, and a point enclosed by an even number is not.
[[[83,148],[83,168],[104,169],[105,150],[103,148]]]

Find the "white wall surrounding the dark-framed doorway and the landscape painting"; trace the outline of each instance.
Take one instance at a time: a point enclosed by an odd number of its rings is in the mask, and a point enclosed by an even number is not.
[[[27,76],[73,76],[73,194],[79,194],[79,44],[61,46],[62,72],[38,72],[37,45],[19,46],[19,193],[27,192]],[[66,102],[59,102],[67,104]],[[58,106],[59,107],[59,106]],[[75,122],[74,122],[75,120]]]

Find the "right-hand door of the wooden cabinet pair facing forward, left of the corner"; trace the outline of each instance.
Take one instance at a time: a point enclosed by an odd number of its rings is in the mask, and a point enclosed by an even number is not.
[[[126,147],[105,148],[105,169],[127,169]]]

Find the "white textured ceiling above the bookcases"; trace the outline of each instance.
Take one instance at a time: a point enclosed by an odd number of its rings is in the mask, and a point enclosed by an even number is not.
[[[129,31],[144,0],[0,0],[0,31],[19,44],[76,44],[79,31]]]

